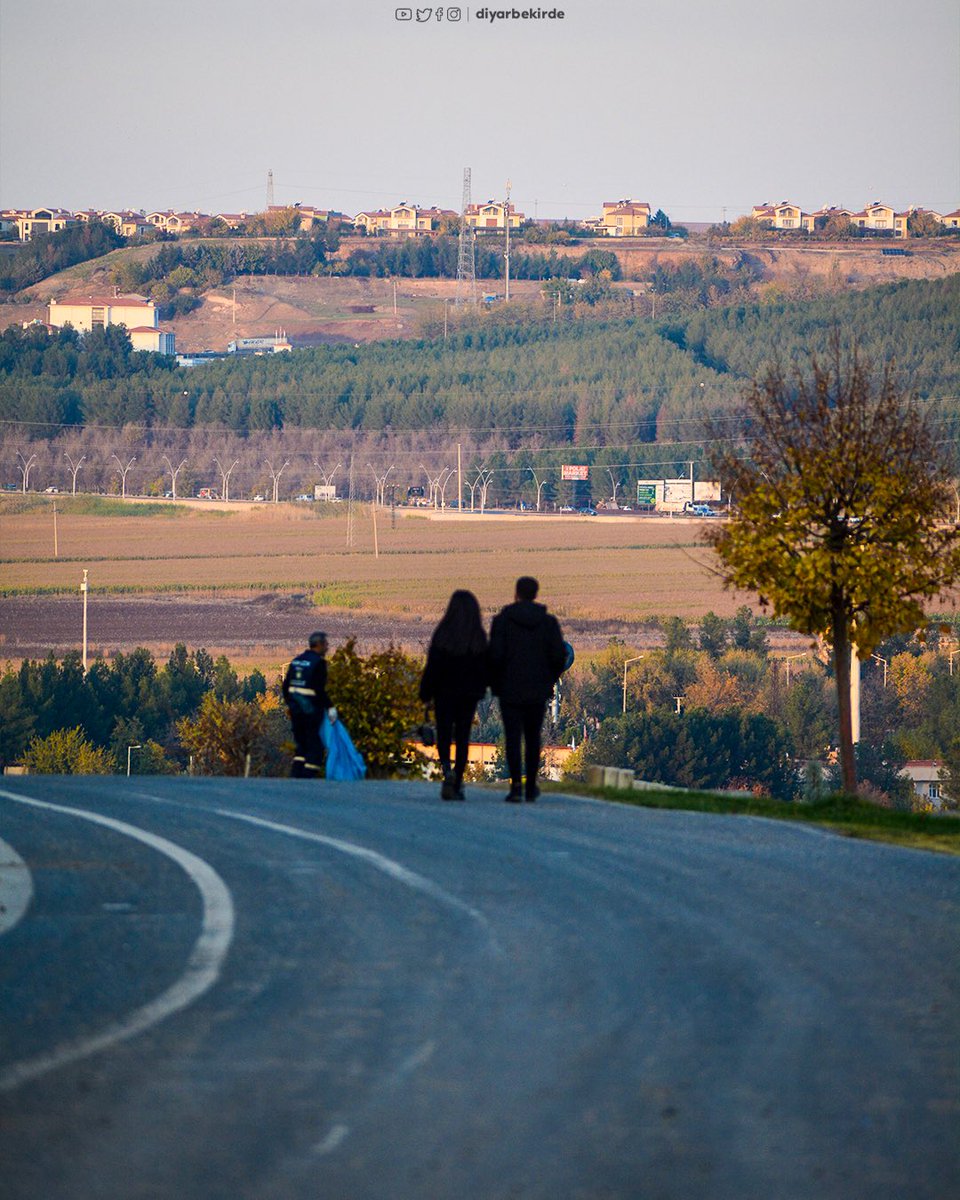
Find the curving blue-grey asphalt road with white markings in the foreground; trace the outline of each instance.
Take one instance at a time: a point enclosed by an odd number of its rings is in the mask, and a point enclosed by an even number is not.
[[[958,1194],[955,858],[426,785],[0,787],[5,1200]]]

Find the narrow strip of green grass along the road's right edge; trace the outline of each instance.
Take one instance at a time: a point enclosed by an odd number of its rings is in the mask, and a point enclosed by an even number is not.
[[[547,784],[546,790],[570,796],[589,796],[644,809],[677,809],[688,812],[720,812],[774,821],[794,821],[829,829],[844,838],[884,841],[911,850],[960,854],[960,817],[881,809],[851,796],[828,796],[814,803],[785,804],[769,797],[728,797],[713,792],[642,791],[587,787],[586,784]]]

